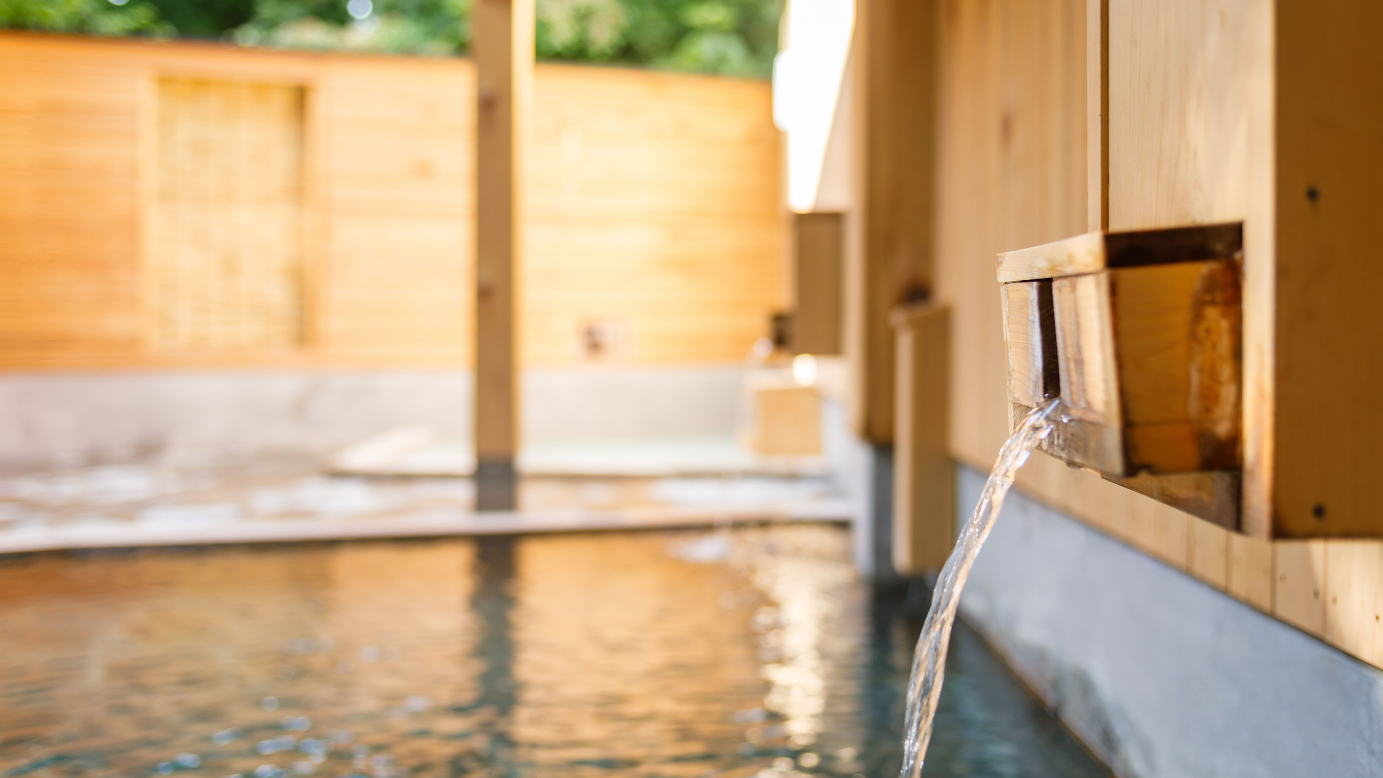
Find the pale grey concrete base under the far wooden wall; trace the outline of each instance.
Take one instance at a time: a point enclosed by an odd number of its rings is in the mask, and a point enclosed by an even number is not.
[[[523,376],[524,442],[721,435],[739,365]],[[0,376],[0,470],[322,457],[409,424],[470,439],[470,370],[144,370]]]

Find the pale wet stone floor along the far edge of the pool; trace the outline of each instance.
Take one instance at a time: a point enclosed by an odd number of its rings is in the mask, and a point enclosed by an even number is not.
[[[317,463],[127,464],[0,478],[0,553],[503,535],[851,515],[822,475],[526,475],[512,513],[469,478],[326,474]]]

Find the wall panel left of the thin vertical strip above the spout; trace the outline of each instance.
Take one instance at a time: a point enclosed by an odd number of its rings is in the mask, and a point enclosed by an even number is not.
[[[940,30],[936,279],[954,303],[950,441],[987,470],[1008,433],[994,256],[1086,231],[1084,0],[945,3]]]

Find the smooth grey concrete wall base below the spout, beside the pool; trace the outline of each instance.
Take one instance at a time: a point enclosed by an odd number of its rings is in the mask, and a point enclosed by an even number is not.
[[[1383,775],[1383,672],[1021,493],[961,611],[1119,775]]]

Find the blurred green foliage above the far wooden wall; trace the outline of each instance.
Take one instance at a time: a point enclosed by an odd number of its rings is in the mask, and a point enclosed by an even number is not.
[[[243,46],[454,54],[472,0],[0,0],[0,26],[224,37]],[[766,76],[781,0],[537,0],[537,55]],[[366,12],[362,12],[368,10]]]

